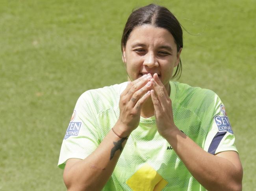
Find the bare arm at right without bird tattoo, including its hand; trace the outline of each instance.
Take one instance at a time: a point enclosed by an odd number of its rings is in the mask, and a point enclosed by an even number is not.
[[[211,155],[174,124],[172,101],[157,74],[150,81],[158,132],[173,147],[189,172],[208,190],[241,190],[243,169],[234,151]]]

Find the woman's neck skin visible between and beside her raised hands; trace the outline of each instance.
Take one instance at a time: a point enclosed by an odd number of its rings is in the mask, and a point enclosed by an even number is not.
[[[165,85],[165,89],[167,90],[167,93],[170,96],[171,87],[169,83]],[[152,117],[153,115],[154,115],[154,105],[151,97],[149,97],[141,108],[141,116],[144,118],[149,118],[149,117]]]

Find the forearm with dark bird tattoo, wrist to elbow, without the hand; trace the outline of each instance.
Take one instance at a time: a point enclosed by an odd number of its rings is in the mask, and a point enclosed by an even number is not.
[[[63,177],[68,190],[101,190],[113,173],[125,144],[125,139],[110,130],[91,155],[65,169]]]

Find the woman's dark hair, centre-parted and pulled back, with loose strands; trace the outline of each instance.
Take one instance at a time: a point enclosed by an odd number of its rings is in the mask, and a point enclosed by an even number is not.
[[[176,17],[167,8],[150,4],[145,7],[136,9],[129,16],[121,40],[121,51],[126,46],[126,42],[129,38],[132,30],[141,25],[151,24],[156,27],[167,29],[172,35],[177,45],[177,52],[183,47],[182,28]],[[172,78],[178,76],[180,78],[182,73],[181,60],[177,66],[177,69]]]

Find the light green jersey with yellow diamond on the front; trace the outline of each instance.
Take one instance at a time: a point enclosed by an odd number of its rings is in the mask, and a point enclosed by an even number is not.
[[[205,151],[237,151],[224,105],[211,90],[170,82],[175,125]],[[119,98],[127,82],[83,93],[61,146],[58,166],[84,159],[119,118]],[[110,156],[110,153],[109,153]],[[211,165],[211,164],[209,164]],[[129,136],[104,191],[203,191],[170,144],[159,135],[155,117],[141,117]]]

